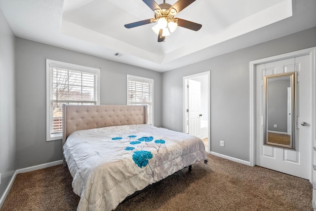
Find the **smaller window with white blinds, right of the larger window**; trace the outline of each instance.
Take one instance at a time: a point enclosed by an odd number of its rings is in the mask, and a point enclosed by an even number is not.
[[[147,124],[153,124],[153,86],[153,79],[127,75],[127,105],[147,105]]]

